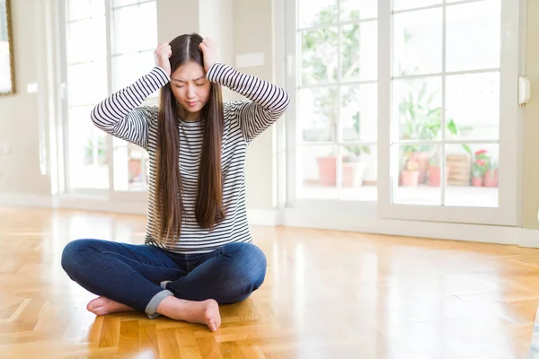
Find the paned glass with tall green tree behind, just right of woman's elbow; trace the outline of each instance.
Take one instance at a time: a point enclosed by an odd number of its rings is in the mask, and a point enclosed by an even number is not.
[[[377,4],[298,3],[296,197],[376,200]]]

